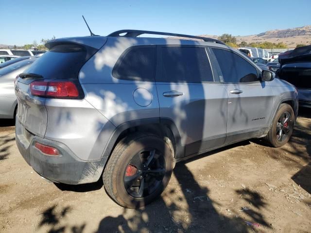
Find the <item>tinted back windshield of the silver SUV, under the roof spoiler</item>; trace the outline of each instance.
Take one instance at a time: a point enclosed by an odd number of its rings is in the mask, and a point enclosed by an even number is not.
[[[75,44],[56,45],[37,59],[25,73],[42,75],[46,79],[77,79],[86,62],[86,49]]]

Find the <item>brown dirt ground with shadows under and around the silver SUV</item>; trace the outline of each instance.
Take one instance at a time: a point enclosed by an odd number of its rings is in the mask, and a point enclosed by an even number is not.
[[[161,198],[139,210],[113,202],[101,181],[41,179],[8,125],[0,127],[0,232],[311,232],[310,110],[282,148],[250,140],[178,163]]]

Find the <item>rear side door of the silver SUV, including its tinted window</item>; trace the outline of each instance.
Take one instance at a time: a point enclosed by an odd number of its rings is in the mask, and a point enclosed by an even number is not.
[[[205,47],[157,46],[160,121],[175,124],[186,156],[225,142],[227,93],[217,78]]]

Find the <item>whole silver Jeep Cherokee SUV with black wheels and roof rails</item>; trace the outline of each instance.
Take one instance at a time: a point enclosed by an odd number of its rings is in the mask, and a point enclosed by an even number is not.
[[[295,87],[218,40],[122,30],[46,46],[15,82],[16,141],[52,182],[103,177],[135,208],[162,193],[175,162],[249,138],[280,147],[293,132]]]

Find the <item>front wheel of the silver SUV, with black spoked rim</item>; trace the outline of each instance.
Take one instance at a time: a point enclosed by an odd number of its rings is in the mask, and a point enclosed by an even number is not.
[[[269,133],[265,136],[265,140],[273,147],[281,147],[285,145],[294,130],[295,115],[293,108],[282,103],[273,119]]]

